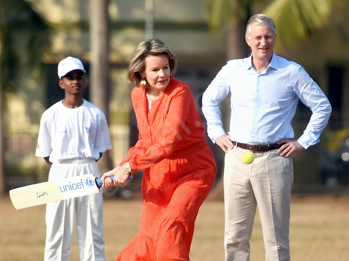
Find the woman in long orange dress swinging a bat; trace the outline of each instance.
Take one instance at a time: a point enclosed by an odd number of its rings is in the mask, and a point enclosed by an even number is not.
[[[139,140],[102,180],[103,187],[123,184],[144,169],[143,205],[139,234],[117,261],[189,260],[196,215],[215,180],[193,94],[171,77],[175,71],[176,57],[158,39],[141,42],[129,64]]]

